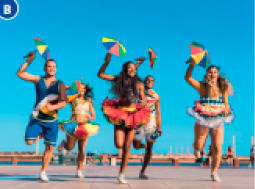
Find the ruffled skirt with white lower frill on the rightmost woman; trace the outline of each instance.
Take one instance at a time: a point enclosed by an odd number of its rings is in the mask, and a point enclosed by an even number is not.
[[[194,108],[187,108],[187,113],[196,118],[196,123],[203,127],[215,129],[224,123],[231,123],[234,119],[233,112],[228,109],[228,115],[223,114],[224,105],[219,104],[218,106],[210,106],[195,102]]]

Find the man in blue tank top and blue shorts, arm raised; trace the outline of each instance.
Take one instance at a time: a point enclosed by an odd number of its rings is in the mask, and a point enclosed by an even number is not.
[[[51,161],[58,135],[58,110],[66,106],[67,96],[65,85],[55,78],[56,62],[54,60],[46,61],[43,77],[26,72],[35,55],[36,51],[29,54],[28,60],[18,70],[17,76],[35,84],[36,103],[26,129],[25,141],[27,145],[32,145],[40,138],[45,138],[45,153],[39,178],[47,182],[48,177],[45,171]]]

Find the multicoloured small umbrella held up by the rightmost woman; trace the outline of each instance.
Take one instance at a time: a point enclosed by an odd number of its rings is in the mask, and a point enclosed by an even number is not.
[[[207,68],[210,64],[208,51],[204,46],[193,42],[190,46],[190,56],[195,60],[196,64],[203,68]]]

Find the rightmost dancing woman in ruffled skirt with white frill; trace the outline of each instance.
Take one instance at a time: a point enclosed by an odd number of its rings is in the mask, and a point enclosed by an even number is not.
[[[186,81],[200,94],[200,100],[195,102],[193,109],[187,112],[196,118],[194,126],[195,141],[194,154],[200,158],[200,150],[203,149],[208,132],[211,135],[212,173],[214,181],[220,181],[217,169],[221,160],[224,123],[231,123],[234,115],[228,104],[228,96],[232,95],[233,88],[229,81],[220,77],[219,70],[210,66],[206,70],[204,82],[192,78],[195,61],[190,59],[190,66],[186,72]]]

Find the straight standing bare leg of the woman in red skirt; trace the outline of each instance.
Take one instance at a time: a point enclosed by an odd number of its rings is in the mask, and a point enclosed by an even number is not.
[[[125,144],[123,146],[123,155],[122,155],[122,161],[121,161],[121,165],[120,165],[120,173],[121,174],[123,174],[126,169],[128,159],[130,156],[130,148],[131,148],[134,136],[135,136],[135,132],[136,132],[135,129],[125,128]]]

